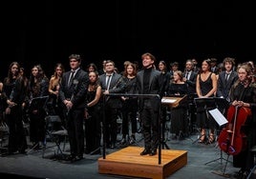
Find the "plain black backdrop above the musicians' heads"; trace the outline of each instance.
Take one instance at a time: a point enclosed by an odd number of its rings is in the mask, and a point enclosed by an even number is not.
[[[55,63],[69,70],[68,56],[80,53],[83,67],[113,59],[139,61],[143,52],[157,60],[195,57],[200,62],[232,56],[252,59],[252,2],[84,1],[75,3],[10,2],[2,7],[1,80],[12,61],[25,67],[41,64],[47,75]]]

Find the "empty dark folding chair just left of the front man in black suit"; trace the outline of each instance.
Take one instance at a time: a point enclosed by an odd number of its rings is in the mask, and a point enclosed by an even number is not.
[[[62,125],[62,121],[58,115],[48,115],[46,117],[46,137],[43,144],[42,157],[45,157],[46,149],[54,149],[54,157],[60,155],[64,157],[63,151],[65,150],[66,141],[68,137],[68,131]],[[63,148],[60,148],[61,142],[63,142]],[[52,143],[51,145],[49,143]],[[49,144],[49,146],[48,146]]]

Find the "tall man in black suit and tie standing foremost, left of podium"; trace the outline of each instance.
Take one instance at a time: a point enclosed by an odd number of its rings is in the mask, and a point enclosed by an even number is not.
[[[67,129],[71,149],[68,160],[77,161],[83,158],[83,120],[89,77],[88,73],[80,68],[79,54],[70,55],[69,60],[71,70],[63,74],[59,98],[67,109]]]

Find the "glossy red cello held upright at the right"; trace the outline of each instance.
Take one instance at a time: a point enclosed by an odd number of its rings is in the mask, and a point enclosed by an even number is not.
[[[227,110],[227,127],[224,128],[218,138],[220,149],[227,154],[236,155],[245,149],[245,133],[241,127],[247,117],[251,116],[251,110],[245,107],[230,106]]]

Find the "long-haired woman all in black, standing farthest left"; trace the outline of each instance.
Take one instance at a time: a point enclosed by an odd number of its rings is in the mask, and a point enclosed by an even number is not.
[[[23,128],[23,104],[27,96],[27,83],[20,73],[20,65],[12,62],[8,76],[4,80],[5,117],[9,126],[8,153],[25,153],[28,148],[25,129]]]

